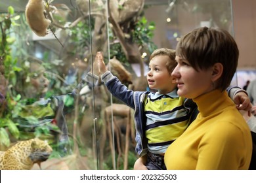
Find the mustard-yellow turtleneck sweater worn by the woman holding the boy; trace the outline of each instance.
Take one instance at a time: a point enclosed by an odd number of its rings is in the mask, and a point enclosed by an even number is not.
[[[214,90],[193,100],[200,113],[167,148],[167,169],[248,169],[251,133],[228,94]]]

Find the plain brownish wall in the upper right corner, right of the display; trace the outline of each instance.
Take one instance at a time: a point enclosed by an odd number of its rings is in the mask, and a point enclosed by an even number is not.
[[[256,1],[232,0],[234,37],[240,50],[238,69],[256,70]]]

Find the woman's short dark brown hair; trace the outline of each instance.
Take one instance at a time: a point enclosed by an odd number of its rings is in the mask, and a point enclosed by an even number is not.
[[[228,31],[200,27],[181,38],[177,44],[176,55],[186,59],[196,71],[221,63],[223,75],[217,88],[226,90],[236,73],[239,50]]]

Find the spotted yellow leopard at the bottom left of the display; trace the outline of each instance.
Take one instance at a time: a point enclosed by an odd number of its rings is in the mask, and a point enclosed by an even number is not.
[[[37,138],[17,142],[5,152],[0,152],[0,170],[30,170],[34,163],[40,167],[52,152],[47,141]]]

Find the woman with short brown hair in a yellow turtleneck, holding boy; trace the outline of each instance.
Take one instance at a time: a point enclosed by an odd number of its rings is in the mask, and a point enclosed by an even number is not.
[[[248,169],[251,133],[226,92],[238,55],[236,42],[223,29],[201,27],[179,41],[172,76],[178,95],[193,99],[200,113],[167,148],[167,169]]]

